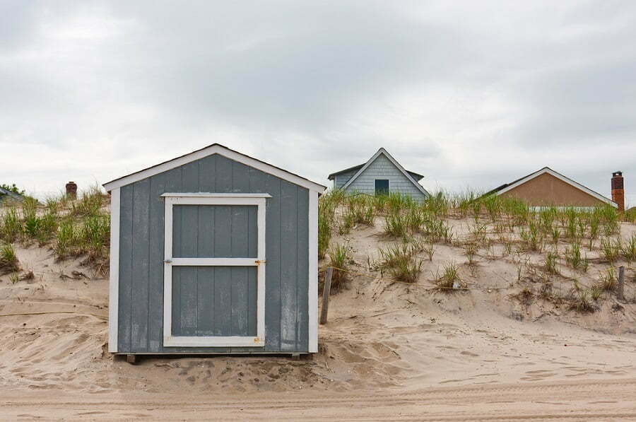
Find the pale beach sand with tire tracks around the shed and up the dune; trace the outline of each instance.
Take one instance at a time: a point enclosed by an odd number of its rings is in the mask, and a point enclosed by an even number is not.
[[[471,224],[451,223],[459,235]],[[623,236],[633,230],[623,225]],[[367,258],[390,242],[381,218],[334,242],[348,243],[359,275],[332,296],[313,360],[153,357],[139,365],[106,352],[107,280],[81,258],[55,262],[47,247],[19,247],[35,278],[0,277],[0,418],[636,420],[634,303],[607,295],[586,315],[538,299],[525,305],[512,295],[538,282],[519,283],[514,258],[496,248],[469,266],[461,247],[436,245],[416,285],[380,280]],[[475,289],[432,290],[447,262]],[[574,275],[590,284],[605,266],[592,262]],[[632,298],[633,269],[627,274]],[[565,291],[572,281],[554,284]]]

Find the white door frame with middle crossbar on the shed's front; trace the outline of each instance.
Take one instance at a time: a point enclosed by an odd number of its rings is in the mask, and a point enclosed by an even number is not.
[[[265,217],[268,194],[163,194],[165,197],[163,271],[163,346],[263,347],[265,346]],[[172,207],[175,205],[256,205],[257,258],[172,257]],[[257,266],[257,336],[172,336],[172,266]]]

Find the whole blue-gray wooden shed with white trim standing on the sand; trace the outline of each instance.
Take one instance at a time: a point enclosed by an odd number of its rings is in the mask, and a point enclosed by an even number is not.
[[[104,187],[110,352],[317,352],[324,186],[215,143]]]

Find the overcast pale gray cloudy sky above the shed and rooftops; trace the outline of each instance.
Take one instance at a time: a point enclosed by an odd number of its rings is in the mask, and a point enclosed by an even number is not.
[[[0,0],[0,182],[214,142],[322,184],[381,146],[431,190],[623,170],[635,205],[636,2]]]

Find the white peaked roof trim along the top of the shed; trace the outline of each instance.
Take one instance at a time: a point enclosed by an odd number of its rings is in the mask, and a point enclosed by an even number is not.
[[[103,186],[107,190],[107,192],[110,192],[112,191],[112,189],[116,189],[117,187],[126,186],[126,184],[131,184],[139,180],[158,175],[159,173],[163,173],[167,170],[172,170],[173,168],[180,167],[187,163],[192,163],[192,161],[200,160],[201,158],[205,158],[213,154],[218,154],[225,158],[229,158],[230,160],[237,161],[238,163],[249,165],[249,167],[256,168],[258,170],[261,170],[262,172],[266,172],[283,180],[287,180],[290,183],[298,184],[298,186],[305,187],[307,189],[310,189],[311,191],[318,192],[319,194],[322,194],[326,190],[326,187],[322,186],[322,184],[314,183],[311,180],[307,180],[304,177],[294,175],[293,173],[290,173],[281,168],[274,167],[271,164],[264,163],[263,161],[257,160],[256,158],[245,156],[242,153],[231,150],[230,148],[227,148],[218,143],[214,143],[211,146],[206,146],[206,148],[202,148],[199,151],[194,151],[192,153],[186,154],[185,156],[180,156],[170,161],[166,161],[165,163],[154,165],[151,168],[146,168],[145,170],[134,172],[131,175],[120,177],[119,179],[115,179],[111,182],[105,183]]]

